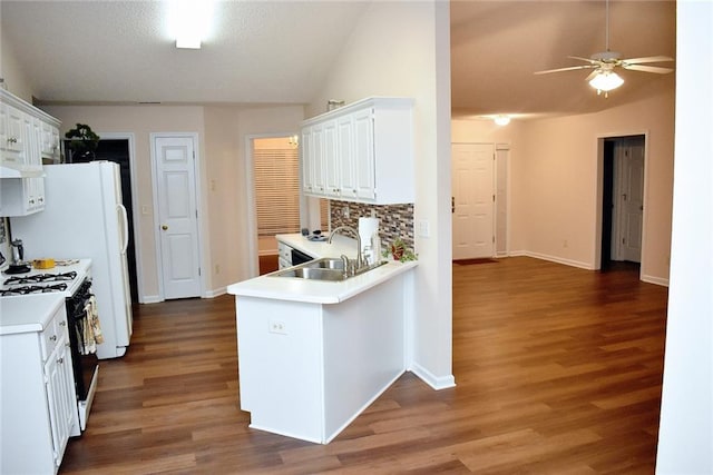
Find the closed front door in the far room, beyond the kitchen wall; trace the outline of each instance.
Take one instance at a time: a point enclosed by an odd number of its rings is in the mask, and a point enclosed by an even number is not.
[[[453,259],[495,255],[492,144],[452,146]]]

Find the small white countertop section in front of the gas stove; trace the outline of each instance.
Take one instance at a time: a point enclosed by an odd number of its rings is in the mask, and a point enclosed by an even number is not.
[[[65,305],[65,294],[36,294],[0,298],[0,335],[42,331],[57,309]]]

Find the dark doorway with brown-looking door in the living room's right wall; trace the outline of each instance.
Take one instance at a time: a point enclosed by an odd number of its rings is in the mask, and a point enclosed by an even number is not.
[[[644,232],[644,135],[603,141],[600,270],[641,265]]]

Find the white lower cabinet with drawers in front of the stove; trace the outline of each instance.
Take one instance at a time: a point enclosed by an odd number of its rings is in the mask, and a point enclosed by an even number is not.
[[[64,299],[53,311],[41,331],[0,336],[3,474],[57,473],[70,435],[79,435]]]

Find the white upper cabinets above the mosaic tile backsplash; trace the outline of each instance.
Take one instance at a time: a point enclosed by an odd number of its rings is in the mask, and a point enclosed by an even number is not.
[[[344,201],[413,202],[413,100],[369,98],[305,120],[303,192]]]

